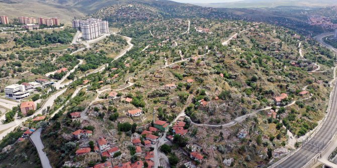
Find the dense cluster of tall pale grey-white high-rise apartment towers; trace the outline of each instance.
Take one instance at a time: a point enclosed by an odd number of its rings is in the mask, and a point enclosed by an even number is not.
[[[109,33],[109,23],[101,19],[90,18],[87,20],[72,21],[72,28],[82,32],[83,40],[92,40],[101,36],[101,33]]]

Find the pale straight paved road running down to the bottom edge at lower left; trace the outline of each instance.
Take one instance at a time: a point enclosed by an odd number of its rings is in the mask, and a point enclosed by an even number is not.
[[[49,162],[49,159],[46,153],[42,150],[44,148],[42,140],[41,140],[41,128],[37,129],[32,135],[30,136],[31,140],[33,141],[37,152],[39,153],[39,157],[41,160],[41,164],[43,168],[52,168]]]

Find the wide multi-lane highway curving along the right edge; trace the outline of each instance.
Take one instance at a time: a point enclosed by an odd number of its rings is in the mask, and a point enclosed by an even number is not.
[[[336,51],[329,45],[323,43],[322,38],[330,36],[330,34],[318,35],[316,38],[322,45]],[[335,78],[335,76],[334,76]],[[302,146],[287,158],[281,159],[279,162],[273,164],[271,167],[304,167],[312,159],[316,162],[321,152],[330,143],[337,131],[337,91],[336,84],[330,94],[330,101],[328,113],[321,125],[318,126],[315,133],[307,140],[303,141]]]

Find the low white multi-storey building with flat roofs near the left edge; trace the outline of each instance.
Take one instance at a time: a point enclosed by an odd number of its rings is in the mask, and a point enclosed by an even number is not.
[[[6,98],[20,100],[29,96],[29,91],[26,90],[25,85],[14,84],[6,86],[5,88]]]

